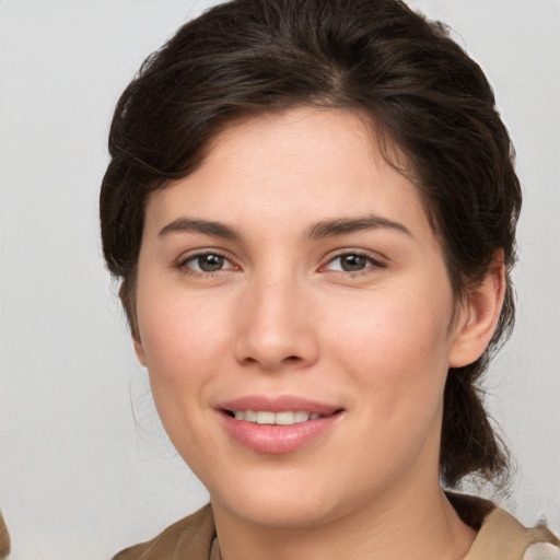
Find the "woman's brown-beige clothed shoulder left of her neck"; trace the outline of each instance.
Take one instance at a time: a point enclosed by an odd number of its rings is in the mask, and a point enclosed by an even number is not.
[[[207,504],[152,540],[122,550],[113,560],[208,560],[214,536],[212,509]]]

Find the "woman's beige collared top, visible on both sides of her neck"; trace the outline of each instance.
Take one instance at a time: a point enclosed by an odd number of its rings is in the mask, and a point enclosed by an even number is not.
[[[464,560],[560,560],[560,541],[544,525],[525,528],[486,500],[447,495],[463,521],[478,529]],[[220,560],[210,504],[113,560]]]

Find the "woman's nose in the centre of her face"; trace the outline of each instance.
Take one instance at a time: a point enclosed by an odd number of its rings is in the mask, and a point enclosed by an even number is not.
[[[241,307],[235,340],[240,363],[277,371],[305,368],[317,360],[311,301],[293,279],[247,285]]]

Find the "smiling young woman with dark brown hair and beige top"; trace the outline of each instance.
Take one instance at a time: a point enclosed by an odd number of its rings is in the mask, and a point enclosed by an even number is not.
[[[394,0],[238,0],[117,105],[102,236],[211,505],[118,559],[558,556],[445,493],[503,481],[477,393],[521,191],[479,69]],[[533,556],[532,556],[533,555]]]

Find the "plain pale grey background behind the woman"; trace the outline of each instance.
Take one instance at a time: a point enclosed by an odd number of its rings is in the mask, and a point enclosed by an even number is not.
[[[560,2],[415,0],[487,71],[525,192],[488,402],[504,503],[560,532]],[[206,501],[156,419],[98,243],[113,107],[188,0],[0,0],[0,508],[14,560],[108,559]]]

